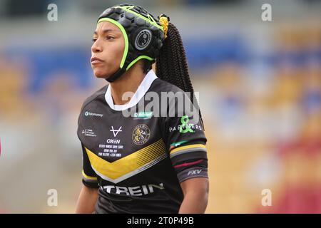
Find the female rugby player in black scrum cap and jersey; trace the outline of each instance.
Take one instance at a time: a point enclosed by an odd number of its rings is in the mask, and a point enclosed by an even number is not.
[[[200,112],[177,28],[141,6],[113,6],[98,18],[91,55],[93,73],[109,84],[85,100],[78,118],[76,213],[204,213],[206,138],[201,116],[193,118]],[[148,108],[151,96],[161,108]]]

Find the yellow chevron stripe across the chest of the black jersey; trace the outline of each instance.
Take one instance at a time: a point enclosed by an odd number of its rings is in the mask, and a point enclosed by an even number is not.
[[[114,183],[148,169],[148,167],[155,165],[167,156],[163,139],[114,162],[103,160],[91,150],[86,147],[85,149],[91,162],[91,167],[93,167],[96,174],[104,180]]]

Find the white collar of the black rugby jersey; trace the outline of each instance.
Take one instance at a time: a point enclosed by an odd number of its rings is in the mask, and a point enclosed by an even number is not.
[[[128,108],[131,108],[134,105],[136,105],[138,103],[138,101],[141,100],[141,98],[143,98],[143,96],[146,94],[146,92],[151,87],[151,84],[153,83],[153,81],[156,78],[157,78],[157,76],[156,76],[155,72],[153,71],[153,69],[151,69],[151,71],[148,71],[145,78],[143,79],[143,81],[141,81],[141,84],[138,86],[138,89],[134,93],[131,100],[129,100],[129,102],[124,105],[115,105],[113,103],[113,98],[111,96],[111,86],[108,85],[108,88],[105,93],[106,102],[113,110],[119,111],[119,110],[126,110]]]

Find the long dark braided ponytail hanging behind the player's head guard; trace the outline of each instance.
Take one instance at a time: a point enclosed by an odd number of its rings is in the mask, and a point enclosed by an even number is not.
[[[163,81],[167,81],[190,93],[190,100],[195,105],[195,108],[199,110],[200,123],[204,129],[198,101],[195,98],[194,89],[190,82],[183,41],[178,29],[171,23],[168,24],[167,38],[165,38],[159,56],[156,59],[156,75]]]

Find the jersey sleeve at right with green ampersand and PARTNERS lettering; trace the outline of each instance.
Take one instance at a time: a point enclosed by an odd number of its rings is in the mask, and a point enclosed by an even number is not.
[[[203,124],[199,110],[185,93],[183,100],[172,100],[169,103],[167,116],[162,119],[161,125],[165,145],[179,182],[193,177],[208,178],[207,139]]]

